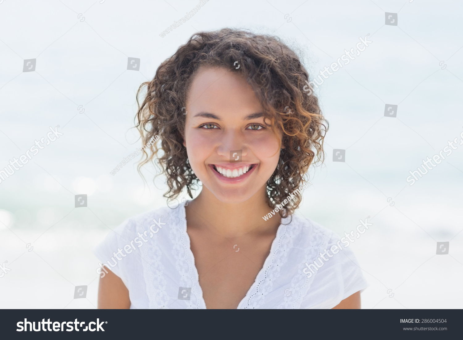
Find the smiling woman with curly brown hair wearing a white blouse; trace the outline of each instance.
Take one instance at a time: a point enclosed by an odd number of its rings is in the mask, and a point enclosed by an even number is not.
[[[302,90],[308,79],[277,38],[231,29],[194,35],[159,66],[140,87],[137,127],[161,142],[140,166],[158,162],[168,199],[202,189],[125,221],[97,247],[104,261],[137,235],[146,242],[100,278],[99,308],[360,308],[366,283],[349,249],[304,274],[339,239],[294,214],[327,129]],[[145,240],[160,218],[163,232]]]

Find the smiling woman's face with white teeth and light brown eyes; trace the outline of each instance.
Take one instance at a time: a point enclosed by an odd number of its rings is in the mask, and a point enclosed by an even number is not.
[[[266,183],[280,157],[281,134],[264,124],[263,108],[238,73],[202,67],[186,103],[185,140],[195,175],[219,201],[239,203]]]

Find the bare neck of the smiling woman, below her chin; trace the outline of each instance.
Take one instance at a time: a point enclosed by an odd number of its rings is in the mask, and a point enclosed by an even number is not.
[[[226,237],[241,237],[246,234],[272,233],[280,225],[278,213],[274,218],[263,220],[272,209],[266,202],[265,188],[248,200],[239,203],[219,201],[207,188],[186,207],[188,223],[209,224]]]

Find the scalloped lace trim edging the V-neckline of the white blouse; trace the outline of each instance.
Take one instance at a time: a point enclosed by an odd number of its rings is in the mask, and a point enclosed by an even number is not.
[[[188,202],[190,202],[190,201],[186,201],[184,204],[180,205],[181,206],[181,220],[183,221],[182,232],[183,232],[183,236],[186,239],[185,247],[188,248],[188,249],[186,249],[186,252],[188,254],[187,256],[189,257],[190,262],[193,265],[193,275],[194,275],[194,277],[191,277],[191,279],[192,279],[192,282],[195,282],[196,286],[198,287],[199,295],[200,295],[199,302],[202,305],[201,307],[204,308],[204,309],[207,309],[206,301],[204,300],[203,291],[202,291],[200,281],[199,281],[199,273],[198,273],[198,269],[196,268],[194,254],[193,254],[193,252],[191,250],[190,235],[188,235],[188,232],[187,232],[187,214],[186,214],[185,205],[188,204]],[[277,247],[276,244],[279,242],[280,238],[282,237],[283,230],[286,231],[286,227],[288,227],[288,225],[285,225],[282,222],[286,222],[287,220],[288,220],[288,217],[283,218],[281,220],[280,225],[278,226],[278,229],[276,230],[275,239],[273,239],[272,245],[270,246],[269,255],[267,255],[267,258],[265,258],[265,261],[263,263],[262,268],[257,273],[257,276],[254,279],[254,282],[251,284],[249,290],[246,292],[246,295],[243,297],[243,299],[238,303],[238,306],[237,306],[236,309],[243,309],[243,305],[245,304],[245,301],[247,299],[249,299],[250,293],[256,288],[256,286],[259,283],[261,283],[263,281],[263,280],[261,280],[261,277],[263,277],[264,272],[269,267],[269,264],[270,264],[269,262],[272,261],[272,257],[275,255],[275,250],[276,250],[276,247]]]

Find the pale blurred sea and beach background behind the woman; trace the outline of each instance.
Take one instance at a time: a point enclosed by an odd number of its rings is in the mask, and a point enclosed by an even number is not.
[[[142,146],[136,91],[192,34],[223,27],[280,37],[311,79],[369,34],[315,90],[330,123],[326,160],[297,214],[339,235],[370,216],[350,246],[369,283],[363,308],[462,308],[462,3],[209,0],[171,26],[199,3],[0,0],[0,170],[50,126],[63,133],[0,183],[0,264],[10,270],[0,308],[96,308],[94,246],[166,204],[153,167],[148,184],[137,159],[110,174]],[[391,105],[396,117],[384,115]],[[457,150],[410,186],[409,171],[455,138]],[[80,194],[87,207],[75,208]]]

